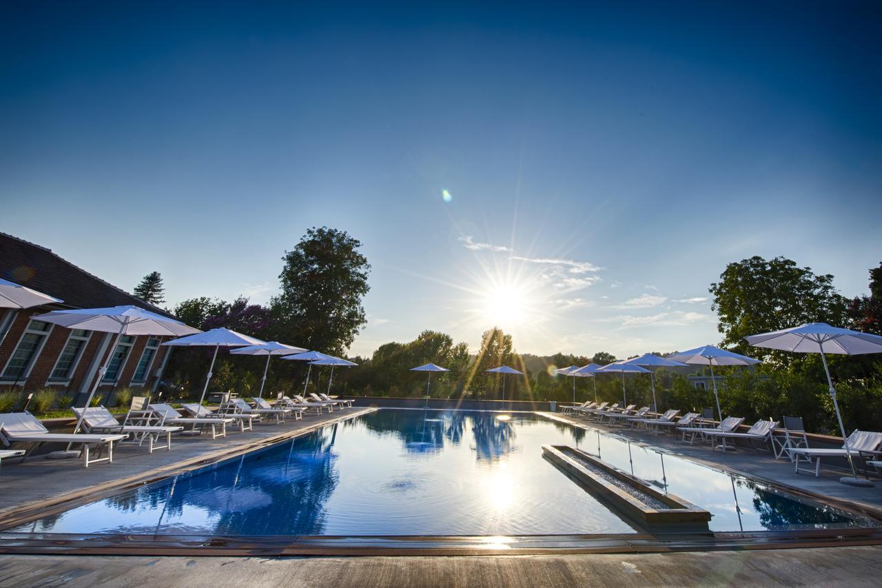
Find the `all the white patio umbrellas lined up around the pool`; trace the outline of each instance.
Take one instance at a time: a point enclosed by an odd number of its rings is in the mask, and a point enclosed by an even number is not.
[[[24,309],[39,305],[57,304],[62,300],[50,297],[46,294],[31,290],[18,283],[13,283],[0,278],[0,308]],[[299,359],[310,362],[310,370],[312,364],[332,366],[332,378],[334,366],[354,366],[352,362],[345,359],[333,358],[333,356],[319,353],[318,351],[306,351],[293,345],[285,345],[284,343],[265,342],[248,335],[235,333],[226,328],[212,329],[202,333],[196,328],[185,325],[180,320],[175,320],[163,316],[158,313],[152,313],[143,308],[133,305],[112,306],[107,308],[86,308],[86,309],[70,309],[52,311],[50,313],[41,314],[35,317],[38,320],[51,322],[65,328],[79,328],[105,333],[116,333],[116,340],[111,349],[116,349],[123,335],[160,335],[181,337],[174,341],[163,343],[164,345],[179,346],[213,346],[214,355],[212,364],[209,367],[206,377],[206,385],[202,391],[200,403],[204,401],[208,382],[212,377],[212,369],[214,360],[217,358],[217,352],[221,347],[237,347],[241,354],[250,355],[266,355],[266,366],[264,368],[264,379],[261,383],[260,394],[263,394],[263,387],[266,381],[266,370],[269,368],[269,360],[273,355],[280,355],[285,359]],[[882,353],[882,336],[861,333],[858,331],[848,330],[846,328],[832,327],[826,323],[815,322],[801,325],[795,328],[786,328],[770,333],[759,335],[751,335],[745,337],[748,343],[755,347],[763,347],[766,349],[774,349],[779,351],[790,351],[796,353],[818,353],[824,364],[827,385],[829,387],[830,396],[833,399],[833,409],[836,412],[836,418],[840,426],[840,433],[845,440],[845,450],[848,455],[848,462],[851,465],[852,477],[843,478],[842,482],[848,484],[865,485],[866,481],[858,479],[856,476],[855,465],[848,449],[848,435],[845,432],[845,426],[842,422],[839,403],[836,399],[836,388],[833,386],[833,379],[830,375],[830,368],[827,366],[826,354],[841,355],[862,355],[866,353]],[[247,351],[246,351],[247,350]],[[235,352],[235,351],[234,351]],[[110,358],[113,354],[108,354],[104,364],[99,368],[98,377],[95,379],[93,388],[89,392],[86,406],[92,402],[92,398],[97,390],[104,373],[107,372]],[[665,363],[669,362],[669,363]],[[652,371],[647,367],[671,366],[671,365],[700,365],[710,366],[711,381],[714,386],[714,399],[717,404],[717,412],[722,419],[720,410],[720,396],[717,391],[716,381],[714,379],[714,366],[749,366],[759,363],[758,359],[749,358],[732,351],[722,350],[713,345],[698,347],[690,351],[677,353],[670,358],[659,358],[652,354],[640,356],[639,358],[627,359],[619,361],[609,366],[595,366],[594,364],[578,369],[572,369],[575,366],[564,368],[562,373],[566,372],[573,377],[577,376],[595,376],[596,373],[609,372],[622,374],[622,392],[625,394],[624,373],[650,373],[653,388],[653,403],[655,405],[655,383]],[[447,371],[444,367],[427,364],[413,368],[415,371],[429,372],[429,381],[427,382],[427,393],[431,384],[431,372]],[[307,371],[307,380],[305,386],[309,384],[310,370]],[[568,372],[567,372],[568,371]],[[503,374],[503,398],[505,399],[505,375],[506,374],[522,374],[518,370],[510,366],[499,366],[487,370],[488,373]],[[330,388],[330,381],[328,382]],[[575,393],[575,380],[573,380],[573,391]],[[596,383],[594,387],[596,397]],[[657,407],[655,407],[657,408]],[[82,424],[82,417],[77,422],[75,432],[79,430]]]

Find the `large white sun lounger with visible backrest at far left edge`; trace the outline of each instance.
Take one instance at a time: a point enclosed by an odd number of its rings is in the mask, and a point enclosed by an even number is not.
[[[49,433],[43,424],[30,412],[4,412],[0,414],[0,441],[9,447],[12,443],[34,443],[34,446],[25,453],[25,458],[34,453],[34,450],[43,443],[73,443],[82,446],[83,467],[99,462],[113,463],[113,444],[123,441],[128,435],[114,434],[86,434],[86,433]],[[102,450],[108,449],[107,457],[91,459],[91,449],[96,448],[97,455]]]

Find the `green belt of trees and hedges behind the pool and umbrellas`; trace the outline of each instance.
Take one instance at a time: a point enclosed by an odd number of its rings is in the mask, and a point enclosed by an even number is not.
[[[310,350],[342,356],[365,324],[363,296],[369,290],[370,265],[359,253],[360,243],[345,231],[310,229],[295,249],[286,252],[280,274],[280,294],[269,305],[252,305],[247,298],[225,302],[193,298],[170,309],[198,328],[227,327],[266,341],[293,343]],[[781,420],[801,416],[817,432],[835,432],[832,401],[827,393],[823,366],[817,354],[790,354],[751,348],[745,335],[790,328],[806,322],[826,322],[882,335],[882,264],[870,270],[870,291],[845,298],[833,287],[833,275],[815,274],[783,257],[759,256],[729,263],[719,282],[710,284],[712,309],[717,314],[721,347],[759,358],[751,369],[715,370],[724,414]],[[697,342],[696,345],[706,342]],[[660,355],[670,355],[669,350]],[[211,350],[176,351],[169,360],[164,383],[168,396],[198,396],[204,384]],[[450,335],[426,330],[407,343],[385,343],[369,358],[350,358],[359,364],[336,369],[331,394],[359,396],[424,396],[426,373],[415,366],[434,363],[450,369],[433,373],[430,396],[437,398],[498,399],[503,379],[486,369],[508,365],[524,372],[508,376],[505,397],[535,401],[572,401],[572,378],[554,369],[608,364],[617,358],[604,351],[592,355],[538,357],[519,355],[512,336],[490,327],[480,350],[470,354],[466,343]],[[882,422],[882,361],[879,356],[828,356],[838,398],[848,429],[878,430]],[[265,358],[222,355],[215,366],[213,391],[235,391],[254,396],[260,387]],[[307,366],[273,358],[265,396],[303,390]],[[700,410],[713,406],[710,388],[696,388],[689,380],[701,368],[656,371],[660,410]],[[307,391],[325,391],[330,370],[315,367]],[[577,401],[594,399],[592,378],[577,378]],[[629,403],[651,405],[647,376],[626,376]],[[621,378],[602,374],[596,378],[601,401],[622,399]]]

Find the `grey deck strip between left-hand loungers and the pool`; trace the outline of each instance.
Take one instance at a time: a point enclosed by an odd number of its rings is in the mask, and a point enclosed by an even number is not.
[[[240,433],[237,426],[228,426],[227,436],[212,439],[208,434],[172,437],[171,451],[153,450],[147,453],[146,445],[119,446],[114,449],[112,464],[93,464],[83,467],[80,459],[46,459],[29,457],[25,462],[4,460],[0,469],[0,526],[11,516],[46,509],[61,501],[80,496],[94,496],[105,489],[121,483],[139,484],[164,478],[177,471],[198,467],[206,462],[235,456],[243,451],[290,439],[316,427],[353,418],[373,408],[359,407],[323,412],[310,411],[299,420],[288,419],[284,423],[254,423],[253,430]],[[2,584],[0,584],[2,585]]]

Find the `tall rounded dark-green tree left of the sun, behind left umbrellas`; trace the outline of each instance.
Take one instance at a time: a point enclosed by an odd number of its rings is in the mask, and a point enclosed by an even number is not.
[[[271,303],[280,340],[339,355],[367,321],[370,264],[344,230],[312,228],[285,252],[281,293]]]

